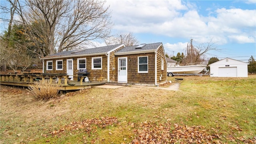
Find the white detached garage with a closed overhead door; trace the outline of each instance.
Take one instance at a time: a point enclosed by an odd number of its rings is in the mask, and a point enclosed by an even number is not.
[[[212,77],[248,77],[248,63],[232,58],[224,58],[210,66]]]

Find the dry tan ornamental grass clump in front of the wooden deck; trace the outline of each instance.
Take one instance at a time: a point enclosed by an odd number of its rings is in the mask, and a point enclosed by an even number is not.
[[[50,82],[50,80],[40,80],[30,84],[28,89],[35,94],[36,98],[50,99],[56,98],[60,91],[61,84]]]

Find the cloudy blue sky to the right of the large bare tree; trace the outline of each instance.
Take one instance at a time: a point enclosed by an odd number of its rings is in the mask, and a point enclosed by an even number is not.
[[[113,33],[132,32],[142,43],[162,42],[166,53],[184,52],[190,39],[211,39],[206,58],[256,58],[256,0],[107,0]]]

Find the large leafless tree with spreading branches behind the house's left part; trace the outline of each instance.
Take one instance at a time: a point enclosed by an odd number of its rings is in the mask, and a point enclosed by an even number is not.
[[[85,47],[93,44],[92,40],[108,36],[112,22],[105,3],[102,0],[28,0],[24,4],[18,1],[15,9],[20,22],[29,27],[34,44],[40,48],[43,43],[54,54]],[[38,52],[42,56],[43,52]]]

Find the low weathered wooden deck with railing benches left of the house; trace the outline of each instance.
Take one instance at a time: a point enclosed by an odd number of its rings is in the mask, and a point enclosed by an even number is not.
[[[93,86],[104,85],[105,82],[82,82],[84,76],[80,76],[80,82],[68,80],[66,74],[1,74],[0,84],[9,86],[23,86],[28,87],[30,84],[36,82],[36,78],[49,79],[51,82],[57,79],[57,82],[62,85],[60,91],[67,90],[81,90],[85,88],[92,88]],[[74,86],[68,85],[69,83],[74,83]]]

